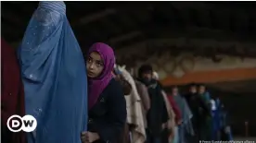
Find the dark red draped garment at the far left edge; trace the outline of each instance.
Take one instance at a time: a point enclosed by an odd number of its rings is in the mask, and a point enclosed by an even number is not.
[[[6,127],[7,119],[11,115],[18,114],[23,116],[25,114],[25,105],[24,90],[16,52],[2,38],[1,63],[1,125]],[[6,132],[11,134],[6,136],[10,138],[5,137],[8,141],[25,142],[25,134],[23,134],[23,132],[11,133],[8,131],[7,127],[5,127],[2,128],[2,133]],[[4,130],[4,128],[6,130]]]

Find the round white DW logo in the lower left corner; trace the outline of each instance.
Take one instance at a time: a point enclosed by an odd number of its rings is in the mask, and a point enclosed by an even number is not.
[[[37,126],[36,119],[32,115],[25,115],[22,118],[14,114],[7,120],[7,127],[11,132],[32,132]]]

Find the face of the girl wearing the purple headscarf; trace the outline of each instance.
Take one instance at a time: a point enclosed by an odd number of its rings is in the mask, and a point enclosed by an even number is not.
[[[104,68],[104,62],[100,54],[92,52],[86,60],[86,68],[88,77],[99,77]]]

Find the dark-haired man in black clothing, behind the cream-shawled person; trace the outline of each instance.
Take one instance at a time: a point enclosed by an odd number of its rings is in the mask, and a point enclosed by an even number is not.
[[[168,112],[160,84],[152,77],[152,66],[139,67],[137,80],[146,85],[150,99],[150,108],[147,112],[147,143],[160,143],[163,126],[166,126],[168,121]]]

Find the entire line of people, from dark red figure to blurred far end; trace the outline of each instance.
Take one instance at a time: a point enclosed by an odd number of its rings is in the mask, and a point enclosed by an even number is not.
[[[63,2],[40,2],[18,54],[3,39],[1,50],[4,143],[190,143],[222,131],[232,139],[223,104],[204,85],[166,92],[152,66],[134,76],[102,42],[83,57]],[[31,114],[36,130],[8,131],[12,114]]]

